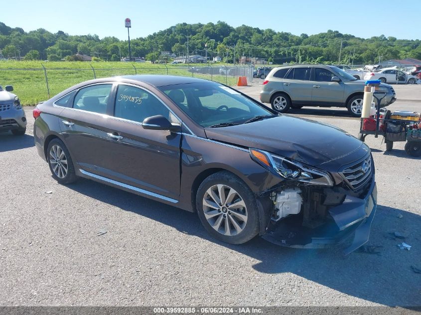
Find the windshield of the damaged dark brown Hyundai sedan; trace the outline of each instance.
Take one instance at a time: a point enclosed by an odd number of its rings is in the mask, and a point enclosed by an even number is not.
[[[241,124],[273,112],[218,83],[189,83],[159,87],[171,101],[203,127]]]

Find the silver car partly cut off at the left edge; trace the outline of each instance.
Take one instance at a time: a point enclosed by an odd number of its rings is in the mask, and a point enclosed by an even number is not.
[[[14,135],[23,135],[26,131],[25,111],[20,104],[19,98],[10,93],[11,85],[5,89],[0,86],[0,131],[11,130]]]

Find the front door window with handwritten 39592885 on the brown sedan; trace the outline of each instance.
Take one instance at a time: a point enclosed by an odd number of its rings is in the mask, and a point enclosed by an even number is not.
[[[136,122],[145,118],[162,115],[172,123],[177,123],[176,117],[151,93],[129,85],[119,85],[116,95],[114,116]]]

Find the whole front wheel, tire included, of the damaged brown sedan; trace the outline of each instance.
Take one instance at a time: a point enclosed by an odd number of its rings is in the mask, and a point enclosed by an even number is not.
[[[209,234],[223,242],[242,244],[259,233],[256,198],[240,178],[227,171],[202,182],[196,209]]]

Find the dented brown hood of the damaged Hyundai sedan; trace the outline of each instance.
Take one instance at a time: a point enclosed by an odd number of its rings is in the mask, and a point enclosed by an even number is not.
[[[342,129],[288,115],[205,128],[205,132],[209,139],[262,149],[312,166],[347,155],[362,145]]]

